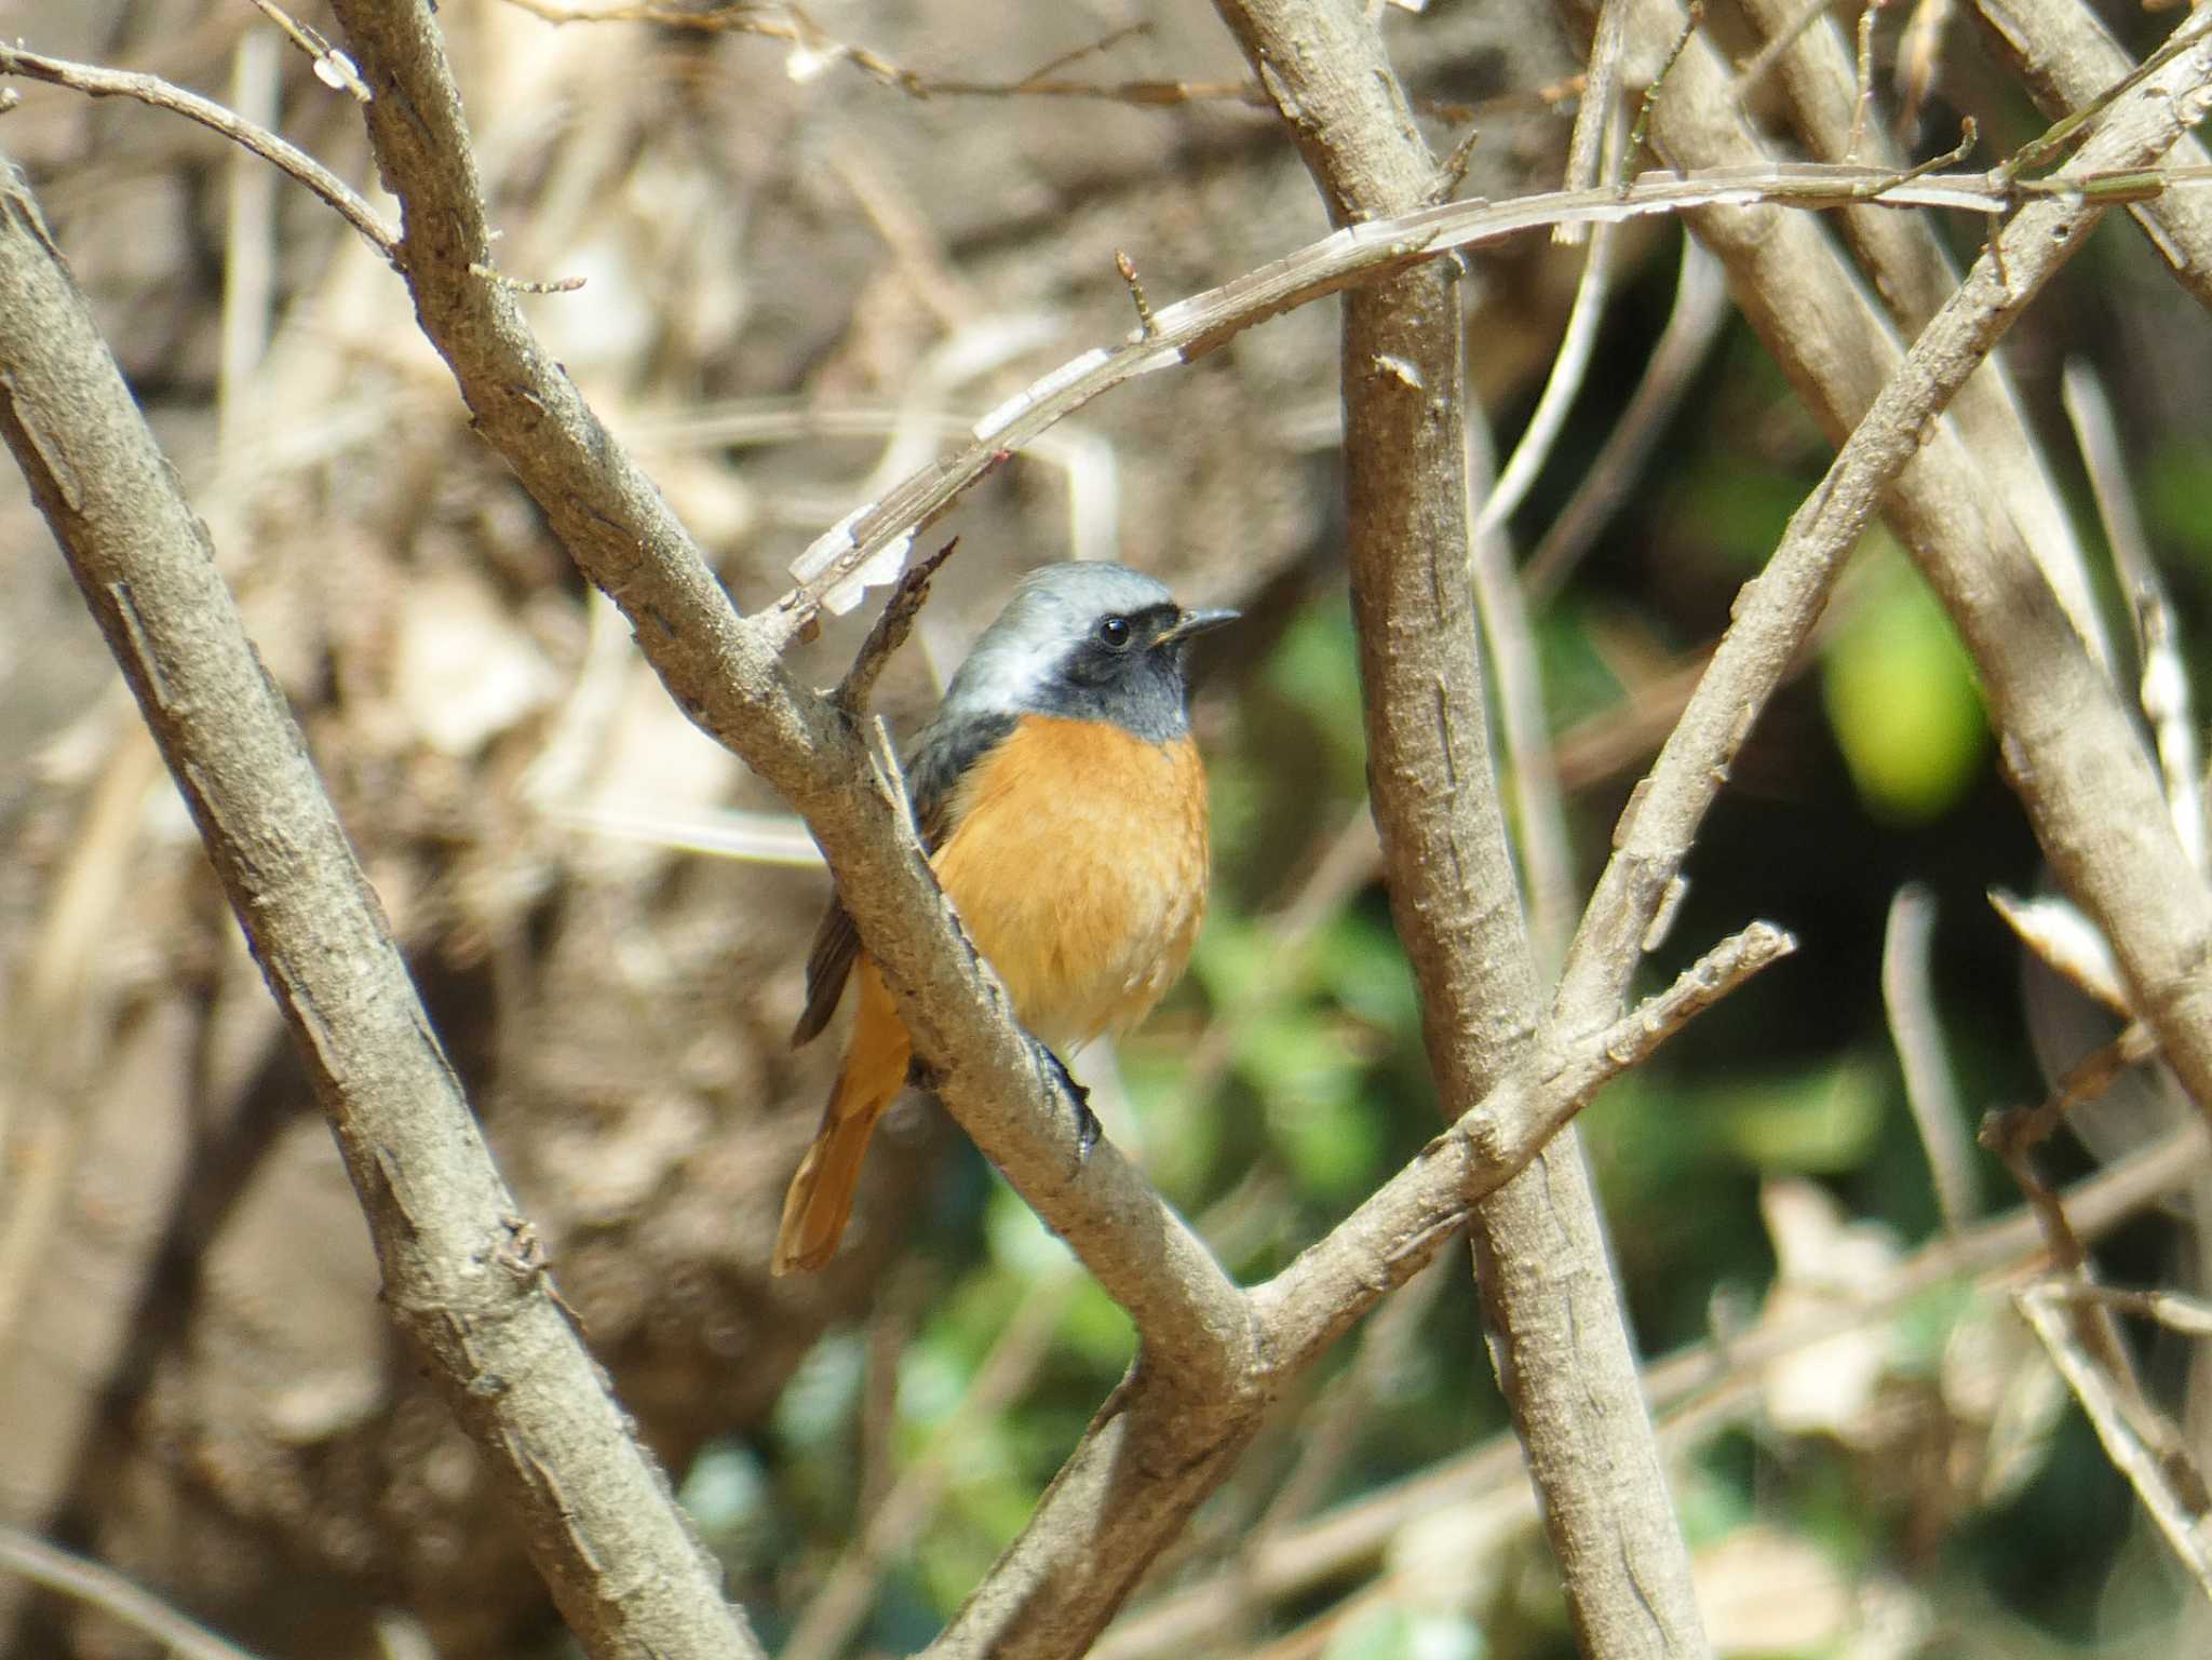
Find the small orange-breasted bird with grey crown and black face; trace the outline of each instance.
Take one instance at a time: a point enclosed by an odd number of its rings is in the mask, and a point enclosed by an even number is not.
[[[1055,1060],[1128,1031],[1190,961],[1210,854],[1183,655],[1234,618],[1188,611],[1121,564],[1046,564],[1015,584],[907,753],[938,881]],[[867,1138],[907,1082],[907,1027],[834,901],[792,1047],[830,1025],[856,965],[858,1018],[783,1195],[776,1275],[830,1262]]]

